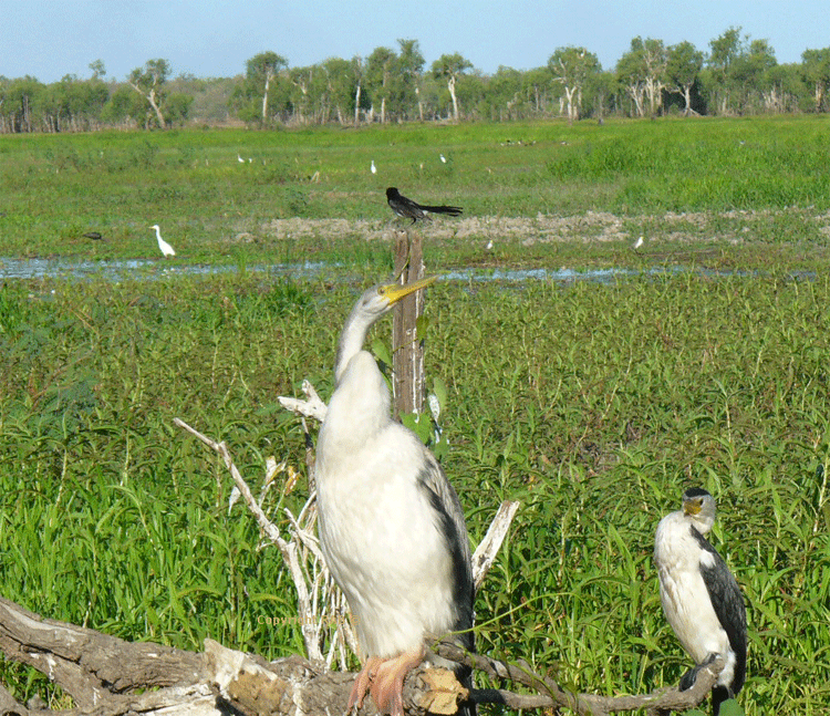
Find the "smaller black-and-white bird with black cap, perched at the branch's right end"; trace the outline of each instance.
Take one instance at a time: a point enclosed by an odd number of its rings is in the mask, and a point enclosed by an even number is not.
[[[746,609],[740,588],[706,535],[715,523],[715,498],[692,488],[683,509],[657,525],[654,562],[660,601],[683,648],[696,666],[681,678],[691,688],[697,673],[720,656],[726,666],[712,689],[715,716],[720,704],[740,692],[746,677]]]

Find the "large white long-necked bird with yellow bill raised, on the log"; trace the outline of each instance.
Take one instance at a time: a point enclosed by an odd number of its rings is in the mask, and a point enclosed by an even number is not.
[[[349,709],[366,692],[403,716],[403,682],[425,642],[449,635],[473,650],[473,574],[458,497],[417,436],[392,419],[390,391],[363,350],[370,326],[433,279],[378,286],[355,304],[340,336],[336,387],[317,454],[320,543],[343,590],[363,670]],[[443,662],[469,686],[469,670]],[[463,709],[471,716],[475,705]]]

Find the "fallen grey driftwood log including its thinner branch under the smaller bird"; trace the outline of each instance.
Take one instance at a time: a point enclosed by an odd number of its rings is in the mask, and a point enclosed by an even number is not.
[[[42,619],[2,599],[0,648],[7,657],[42,671],[73,697],[75,707],[61,712],[64,716],[331,716],[344,713],[354,679],[353,673],[330,672],[300,656],[269,663],[211,640],[205,641],[201,654],[153,643],[132,644]],[[697,683],[686,692],[662,688],[643,696],[605,697],[564,692],[526,663],[467,654],[447,642],[435,644],[433,651],[495,681],[510,681],[535,693],[483,688],[468,694],[452,672],[421,667],[405,683],[404,705],[409,716],[423,716],[427,710],[454,714],[458,702],[468,696],[479,704],[511,709],[558,707],[602,716],[645,708],[656,716],[699,704],[724,666],[718,661],[702,670]],[[0,689],[0,713],[42,716],[50,712],[33,705],[27,708]],[[361,713],[376,714],[371,701]]]

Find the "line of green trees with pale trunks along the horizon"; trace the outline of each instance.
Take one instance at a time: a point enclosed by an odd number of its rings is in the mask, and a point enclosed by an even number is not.
[[[245,122],[263,127],[338,123],[564,116],[748,115],[827,112],[830,48],[805,50],[779,64],[767,40],[729,28],[708,52],[691,42],[666,45],[634,38],[613,70],[585,48],[562,46],[532,70],[500,66],[485,74],[458,53],[427,68],[417,40],[376,48],[366,58],[330,58],[292,68],[276,52],[246,62],[226,79],[173,77],[169,62],[149,60],[124,82],[66,75],[43,84],[0,76],[0,132],[82,132],[106,127],[166,128],[188,122]]]

